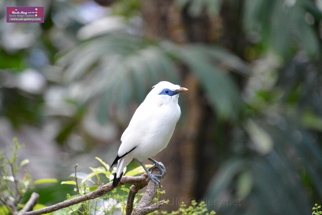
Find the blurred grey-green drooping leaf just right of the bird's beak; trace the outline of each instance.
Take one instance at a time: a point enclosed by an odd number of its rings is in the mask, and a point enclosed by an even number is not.
[[[193,45],[179,48],[176,55],[199,80],[218,115],[223,119],[236,120],[242,99],[237,84],[227,75],[227,71],[211,63],[209,55]]]

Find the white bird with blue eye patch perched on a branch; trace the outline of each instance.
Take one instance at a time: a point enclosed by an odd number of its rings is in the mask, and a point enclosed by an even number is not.
[[[179,93],[187,90],[166,81],[159,82],[152,87],[150,93],[135,111],[128,128],[122,134],[118,156],[111,165],[117,163],[113,187],[117,187],[124,168],[133,159],[137,159],[147,172],[149,176],[147,181],[151,179],[161,187],[158,178],[165,177],[166,169],[162,163],[151,157],[168,145],[181,115],[178,105]],[[152,161],[154,167],[158,167],[162,174],[152,175],[143,164],[146,159]]]

